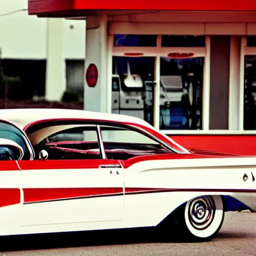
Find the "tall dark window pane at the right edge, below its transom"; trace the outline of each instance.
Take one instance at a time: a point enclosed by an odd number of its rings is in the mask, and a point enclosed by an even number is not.
[[[256,129],[256,55],[244,58],[243,128]]]

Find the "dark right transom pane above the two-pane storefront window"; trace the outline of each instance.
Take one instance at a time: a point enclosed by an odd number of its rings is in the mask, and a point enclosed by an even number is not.
[[[204,47],[203,35],[162,35],[162,47]]]

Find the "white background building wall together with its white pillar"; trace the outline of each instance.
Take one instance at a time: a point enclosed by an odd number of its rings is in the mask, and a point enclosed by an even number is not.
[[[0,0],[2,58],[46,59],[45,98],[60,100],[66,88],[65,60],[85,58],[85,20],[38,18],[26,9],[27,0]]]

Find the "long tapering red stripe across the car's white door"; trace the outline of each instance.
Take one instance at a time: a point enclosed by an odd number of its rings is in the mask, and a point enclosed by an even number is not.
[[[122,187],[87,187],[87,188],[23,188],[24,202],[40,202],[68,198],[113,195],[122,193]]]

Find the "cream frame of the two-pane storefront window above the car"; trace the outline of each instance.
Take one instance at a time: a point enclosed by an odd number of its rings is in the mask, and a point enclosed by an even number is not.
[[[135,32],[133,34],[139,34]],[[193,57],[204,57],[203,66],[203,86],[202,86],[202,107],[201,118],[202,128],[200,130],[161,130],[165,134],[188,134],[188,133],[202,133],[209,130],[209,98],[210,98],[210,36],[205,35],[204,47],[166,47],[161,46],[161,35],[157,35],[157,41],[155,47],[143,47],[143,46],[114,46],[114,35],[109,34],[107,39],[107,112],[111,113],[111,92],[112,92],[112,57],[122,56],[127,57],[124,53],[143,53],[139,57],[155,57],[155,71],[154,71],[154,109],[153,109],[153,126],[159,130],[160,126],[160,57],[167,56],[170,52],[192,52]],[[131,56],[134,57],[134,56]]]

